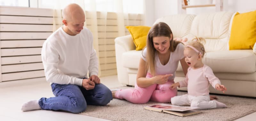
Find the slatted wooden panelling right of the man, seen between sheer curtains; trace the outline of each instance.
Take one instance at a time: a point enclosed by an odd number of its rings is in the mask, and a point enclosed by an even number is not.
[[[98,42],[99,42],[99,58],[101,76],[116,75],[116,54],[115,54],[115,38],[118,37],[117,14],[113,12],[107,13],[107,18],[97,12],[98,25]],[[90,13],[86,13],[87,28],[92,31],[92,18]],[[124,24],[127,25],[143,25],[141,15],[129,14],[124,18]],[[125,28],[125,27],[124,27]],[[125,35],[130,34],[125,28]]]

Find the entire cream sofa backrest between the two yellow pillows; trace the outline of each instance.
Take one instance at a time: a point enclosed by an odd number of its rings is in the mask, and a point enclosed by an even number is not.
[[[206,40],[205,51],[228,50],[229,25],[232,12],[214,12],[199,15],[177,14],[156,20],[170,26],[173,37],[193,39],[195,36]]]

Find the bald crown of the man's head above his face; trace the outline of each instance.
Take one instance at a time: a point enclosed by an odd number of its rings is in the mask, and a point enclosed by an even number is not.
[[[84,10],[78,4],[69,4],[62,10],[62,17],[67,21],[85,18]]]

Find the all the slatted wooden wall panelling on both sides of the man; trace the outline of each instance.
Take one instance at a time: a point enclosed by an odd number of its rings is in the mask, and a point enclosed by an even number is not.
[[[141,15],[129,14],[126,25],[143,25]],[[86,14],[87,27],[92,18]],[[107,19],[97,13],[101,75],[115,75],[115,42],[118,36],[117,15],[107,13]],[[42,45],[52,34],[53,11],[27,7],[0,6],[0,82],[44,79],[41,60]],[[130,34],[125,29],[125,34]]]

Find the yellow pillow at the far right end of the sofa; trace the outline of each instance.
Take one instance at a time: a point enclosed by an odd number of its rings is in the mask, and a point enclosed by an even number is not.
[[[231,26],[229,50],[252,49],[256,42],[256,11],[236,13]]]

